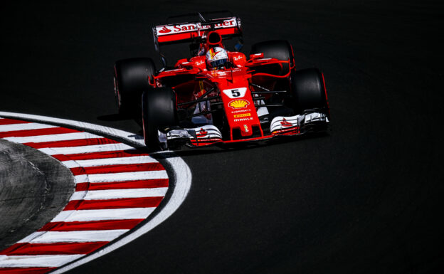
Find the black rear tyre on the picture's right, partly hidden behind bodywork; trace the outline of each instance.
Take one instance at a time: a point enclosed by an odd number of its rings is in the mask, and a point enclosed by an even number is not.
[[[290,68],[295,65],[295,57],[293,56],[293,50],[285,40],[272,40],[255,43],[251,47],[250,55],[255,53],[263,53],[264,58],[276,58],[277,60],[290,60]],[[288,73],[290,69],[288,64],[282,64],[281,75]]]

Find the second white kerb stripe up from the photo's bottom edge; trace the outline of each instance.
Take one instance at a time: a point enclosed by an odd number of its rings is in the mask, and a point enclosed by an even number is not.
[[[129,229],[110,229],[103,231],[46,231],[45,233],[39,233],[38,236],[32,238],[28,243],[108,242],[127,231],[129,231]]]

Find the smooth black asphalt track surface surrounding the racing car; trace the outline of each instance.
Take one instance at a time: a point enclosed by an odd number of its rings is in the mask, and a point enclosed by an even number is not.
[[[287,39],[299,68],[324,72],[331,130],[181,152],[193,181],[178,211],[69,273],[442,270],[440,1],[2,4],[0,110],[139,132],[115,115],[114,61],[155,58],[152,23],[218,9],[243,20],[245,53]]]

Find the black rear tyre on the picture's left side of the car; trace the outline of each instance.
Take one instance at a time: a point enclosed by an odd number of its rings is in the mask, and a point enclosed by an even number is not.
[[[140,98],[151,88],[148,78],[156,71],[151,58],[118,60],[114,65],[114,92],[120,115],[135,116],[140,113]]]

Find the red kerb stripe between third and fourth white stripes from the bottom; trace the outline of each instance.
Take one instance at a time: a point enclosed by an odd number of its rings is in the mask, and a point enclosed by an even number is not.
[[[135,207],[157,207],[164,197],[123,198],[109,200],[73,200],[66,206],[66,210],[88,209],[127,209]]]

